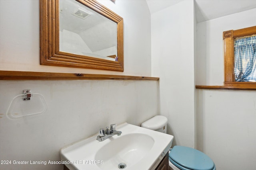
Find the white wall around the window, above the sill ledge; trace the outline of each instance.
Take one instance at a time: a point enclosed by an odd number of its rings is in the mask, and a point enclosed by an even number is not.
[[[254,8],[197,24],[197,66],[195,68],[197,85],[223,85],[223,31],[255,26],[255,13]]]

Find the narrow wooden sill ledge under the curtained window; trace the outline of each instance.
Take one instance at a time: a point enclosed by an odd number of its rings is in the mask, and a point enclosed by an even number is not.
[[[224,86],[199,86],[198,89],[256,90],[255,82],[225,82]]]

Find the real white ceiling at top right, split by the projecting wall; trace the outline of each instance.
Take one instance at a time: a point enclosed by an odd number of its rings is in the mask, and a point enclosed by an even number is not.
[[[150,13],[183,0],[146,0]],[[256,8],[256,0],[194,0],[197,23]]]

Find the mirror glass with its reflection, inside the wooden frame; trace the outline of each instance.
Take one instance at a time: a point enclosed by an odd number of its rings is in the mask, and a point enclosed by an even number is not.
[[[118,61],[114,21],[75,0],[60,0],[59,22],[60,51]]]

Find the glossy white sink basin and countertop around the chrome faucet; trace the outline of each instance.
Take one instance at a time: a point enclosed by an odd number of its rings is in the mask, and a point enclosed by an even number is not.
[[[61,149],[62,161],[70,170],[155,169],[172,145],[173,136],[128,123],[116,127],[122,135],[97,141],[98,134]]]

